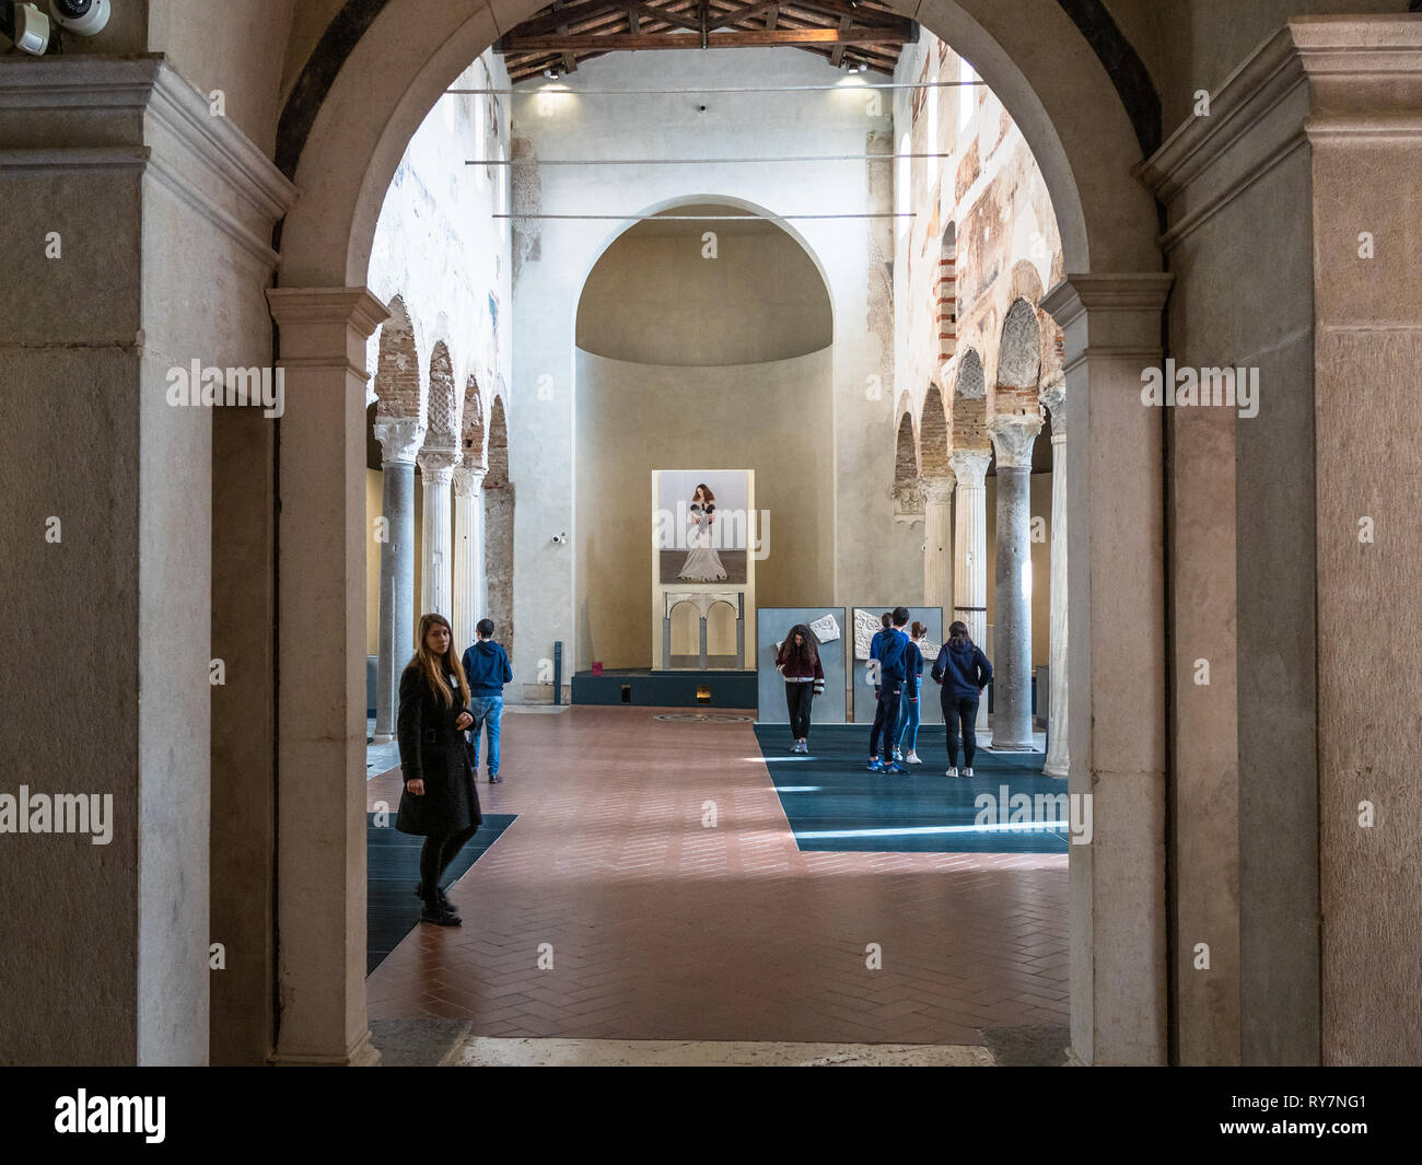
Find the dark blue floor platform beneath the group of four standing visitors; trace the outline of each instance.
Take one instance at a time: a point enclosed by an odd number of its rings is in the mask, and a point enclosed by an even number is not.
[[[812,725],[809,755],[789,751],[784,724],[757,724],[755,738],[802,851],[867,849],[912,853],[1065,853],[1066,821],[1055,798],[1066,782],[1042,777],[1041,752],[985,752],[971,780],[944,777],[944,730],[920,728],[921,765],[904,774],[867,772],[869,725]],[[961,762],[961,758],[960,758]],[[1004,797],[1005,789],[1005,797]],[[991,802],[978,802],[981,795]],[[1007,828],[1012,798],[1027,794],[1032,828]],[[1038,801],[1038,797],[1054,798]],[[1018,798],[1017,805],[1024,802]],[[1041,812],[1045,809],[1045,812]],[[985,818],[985,819],[984,819]]]

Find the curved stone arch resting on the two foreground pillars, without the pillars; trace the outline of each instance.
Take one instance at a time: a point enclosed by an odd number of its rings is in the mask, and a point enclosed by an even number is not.
[[[297,85],[294,95],[307,102],[311,88],[324,90],[319,108],[296,117],[289,102],[283,115],[279,156],[301,189],[280,235],[286,286],[364,282],[385,189],[419,122],[469,61],[542,4],[498,0],[459,13],[387,0],[374,20],[368,3],[358,7],[338,17],[354,21],[344,30],[354,47],[344,57],[313,54],[334,78]],[[1136,111],[1061,3],[893,7],[948,41],[1003,100],[1051,192],[1068,273],[1160,270],[1155,205],[1130,176],[1143,151]]]

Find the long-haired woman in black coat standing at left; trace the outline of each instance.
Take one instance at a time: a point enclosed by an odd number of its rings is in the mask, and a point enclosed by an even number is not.
[[[425,839],[415,893],[425,905],[419,920],[437,926],[462,922],[439,879],[483,821],[464,735],[472,723],[469,681],[449,623],[442,615],[424,615],[419,646],[400,677],[397,737],[405,791],[395,828]]]

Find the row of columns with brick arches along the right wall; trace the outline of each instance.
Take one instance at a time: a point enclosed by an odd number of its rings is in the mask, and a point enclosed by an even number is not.
[[[951,385],[947,424],[933,424],[943,395],[930,388],[913,425],[921,467],[914,494],[923,498],[924,602],[951,607],[951,620],[968,627],[974,643],[987,639],[987,486],[997,457],[997,560],[993,626],[993,747],[1031,751],[1032,612],[1024,585],[1031,562],[1032,445],[1042,430],[1042,408],[1052,418],[1051,633],[1047,762],[1049,777],[1066,777],[1066,413],[1065,378],[1055,323],[1025,299],[1011,304],[1003,323],[993,408],[983,363],[973,349],[944,353],[943,380]],[[1044,343],[1044,340],[1047,343]],[[946,465],[941,444],[946,438]],[[953,495],[957,494],[957,508]],[[978,706],[987,728],[987,701]]]

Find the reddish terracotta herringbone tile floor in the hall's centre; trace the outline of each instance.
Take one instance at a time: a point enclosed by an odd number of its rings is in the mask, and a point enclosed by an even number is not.
[[[505,714],[479,797],[519,818],[449,890],[464,926],[417,926],[370,976],[373,1018],[936,1044],[1066,1023],[1065,856],[801,853],[749,723],[656,711]],[[394,805],[398,770],[368,791]]]

